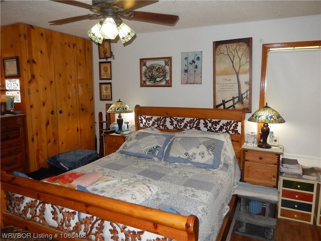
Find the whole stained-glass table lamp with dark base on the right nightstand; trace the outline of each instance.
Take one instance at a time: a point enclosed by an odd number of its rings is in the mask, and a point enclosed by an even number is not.
[[[249,122],[257,122],[257,123],[264,123],[263,127],[261,128],[261,137],[262,142],[260,142],[257,147],[260,148],[271,148],[271,145],[267,143],[267,137],[270,133],[268,123],[284,123],[283,117],[273,108],[269,107],[266,103],[265,106],[256,110],[250,118],[248,118]]]

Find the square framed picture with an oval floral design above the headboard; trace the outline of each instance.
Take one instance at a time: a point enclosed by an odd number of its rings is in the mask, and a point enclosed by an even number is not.
[[[172,87],[172,57],[139,60],[140,87]]]

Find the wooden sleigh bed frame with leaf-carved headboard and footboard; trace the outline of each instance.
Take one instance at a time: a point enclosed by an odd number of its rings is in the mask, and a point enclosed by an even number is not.
[[[173,134],[188,129],[229,133],[241,170],[240,148],[244,142],[244,119],[244,109],[223,110],[135,106],[135,127],[137,131],[145,128],[155,128]],[[13,197],[12,193],[21,196]],[[24,196],[40,201],[29,202],[28,208],[19,209],[18,205],[22,203],[21,199]],[[43,210],[45,209],[44,203],[60,208],[58,212],[63,214],[63,218],[56,220],[57,227],[47,223],[44,216],[45,211]],[[237,197],[231,195],[230,209],[222,220],[216,240],[225,240],[236,204]],[[38,209],[38,212],[30,207],[33,205]],[[70,220],[74,218],[75,213],[66,211],[61,207],[89,215],[87,218],[79,219],[81,221],[71,225]],[[29,212],[28,218],[24,216],[27,215],[26,212]],[[58,214],[53,213],[53,216],[57,217]],[[154,241],[199,240],[199,218],[195,215],[180,215],[89,192],[82,192],[69,187],[1,173],[1,228],[14,225],[34,233],[52,234],[54,238],[60,240],[104,240],[101,234],[104,225],[103,220],[108,220],[113,227],[109,229],[112,233],[110,240],[121,240],[118,239],[119,232],[124,236],[122,240],[141,240],[139,237],[144,231],[159,235],[159,238],[150,239]],[[61,224],[67,227],[63,228]],[[115,226],[118,228],[115,228]],[[78,234],[80,229],[86,235]]]

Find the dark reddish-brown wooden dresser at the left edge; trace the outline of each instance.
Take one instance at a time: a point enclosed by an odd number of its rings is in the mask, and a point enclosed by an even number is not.
[[[26,115],[1,116],[1,170],[26,172]]]

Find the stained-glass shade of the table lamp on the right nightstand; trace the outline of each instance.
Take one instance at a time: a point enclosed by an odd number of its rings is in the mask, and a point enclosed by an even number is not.
[[[269,107],[266,103],[265,106],[256,110],[250,118],[249,122],[257,123],[284,123],[283,117],[273,108]]]

